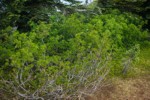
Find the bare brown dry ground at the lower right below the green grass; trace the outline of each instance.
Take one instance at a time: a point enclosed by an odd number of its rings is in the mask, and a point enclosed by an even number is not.
[[[150,75],[139,78],[115,79],[86,100],[150,100]]]

